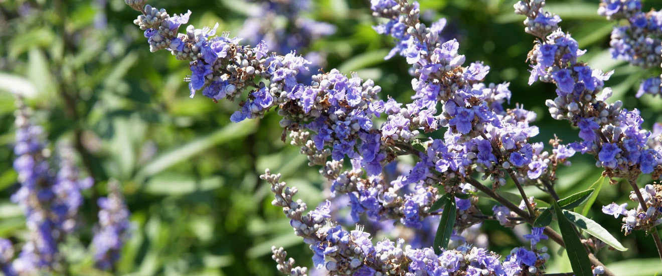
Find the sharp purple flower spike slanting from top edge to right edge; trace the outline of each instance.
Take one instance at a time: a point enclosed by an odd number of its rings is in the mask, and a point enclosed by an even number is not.
[[[540,0],[520,1],[515,9],[516,13],[526,15],[525,23],[530,24],[533,18],[544,14],[543,6],[544,1]],[[547,30],[556,27],[558,21],[536,28]],[[569,120],[579,127],[583,141],[571,144],[573,150],[596,156],[596,165],[604,167],[610,177],[636,178],[641,173],[661,170],[660,149],[648,146],[651,133],[641,127],[643,119],[638,110],[622,110],[620,101],[606,102],[611,89],[603,86],[611,72],[603,73],[577,61],[585,50],[580,50],[577,41],[560,29],[532,33],[541,40],[536,41],[529,55],[532,63],[529,83],[540,80],[557,86],[557,97],[546,104],[553,118]]]

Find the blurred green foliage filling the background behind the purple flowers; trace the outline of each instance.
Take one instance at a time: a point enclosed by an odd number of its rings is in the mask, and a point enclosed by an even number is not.
[[[313,2],[309,16],[336,24],[338,32],[310,50],[328,53],[329,69],[355,71],[381,85],[383,96],[408,102],[408,66],[398,57],[383,59],[392,42],[371,28],[376,21],[369,1]],[[644,71],[610,58],[613,25],[596,15],[598,1],[548,2],[549,11],[563,18],[561,26],[589,50],[584,60],[594,68],[616,70],[607,83],[614,88],[614,99],[623,100],[626,108],[641,109],[647,127],[662,121],[660,98],[634,98],[639,79],[659,70]],[[524,104],[538,113],[541,133],[536,141],[546,142],[554,134],[566,141],[577,137],[566,121],[551,120],[547,113],[544,101],[555,94],[553,87],[527,85],[525,60],[533,37],[524,33],[524,18],[512,12],[514,1],[420,3],[429,11],[426,17],[448,18],[444,35],[458,38],[468,61],[491,66],[487,81],[510,82],[511,104]],[[190,9],[189,23],[220,22],[219,30],[234,33],[247,11],[240,0],[151,4],[171,13]],[[662,1],[646,1],[645,7],[662,7]],[[84,170],[97,180],[85,195],[81,216],[87,226],[78,234],[80,241],[71,239],[63,248],[76,275],[100,273],[91,269],[85,247],[91,240],[89,225],[96,221],[95,197],[105,193],[109,178],[122,183],[135,226],[118,274],[276,275],[272,245],[285,247],[300,265],[310,265],[312,254],[293,234],[282,211],[271,206],[269,187],[258,176],[265,168],[282,173],[283,180],[297,186],[300,197],[314,206],[323,199],[318,168],[309,168],[296,147],[280,140],[282,129],[275,114],[233,124],[229,117],[236,103],[214,104],[203,96],[190,99],[183,82],[187,64],[167,52],[150,53],[142,31],[132,24],[135,17],[136,12],[120,0],[0,1],[0,236],[20,246],[26,232],[21,209],[9,201],[18,186],[12,169],[11,92],[19,92],[26,95],[34,120],[44,125],[52,145],[73,144]],[[559,171],[561,197],[585,190],[600,178],[593,162],[576,156],[573,166]],[[600,212],[612,201],[628,202],[629,191],[628,185],[605,184],[589,210],[589,217],[630,248],[604,250],[598,258],[611,264],[617,275],[652,275],[659,271],[659,259],[649,238],[641,233],[622,236],[620,221]],[[527,192],[549,199],[536,188]],[[492,204],[485,201],[481,208],[491,213]],[[507,253],[521,244],[511,230],[493,222],[483,229],[495,252]],[[632,266],[638,269],[628,269]],[[569,271],[567,258],[553,256],[549,271]]]

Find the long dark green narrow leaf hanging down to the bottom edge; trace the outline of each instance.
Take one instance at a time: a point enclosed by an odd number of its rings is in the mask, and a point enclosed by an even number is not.
[[[584,248],[577,232],[573,228],[568,219],[561,214],[561,207],[559,203],[554,201],[554,211],[556,212],[556,219],[559,221],[559,229],[561,230],[561,236],[563,236],[563,242],[565,243],[565,251],[568,252],[568,258],[570,259],[570,266],[575,272],[575,276],[593,276],[593,270],[591,269],[591,260],[589,260],[589,254]]]

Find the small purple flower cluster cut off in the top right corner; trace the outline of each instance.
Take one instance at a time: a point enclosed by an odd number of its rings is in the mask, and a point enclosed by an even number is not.
[[[614,59],[643,68],[658,67],[662,63],[662,12],[644,13],[640,0],[602,0],[598,15],[629,23],[614,26],[609,49]],[[651,77],[642,81],[636,96],[659,93],[660,78]]]

